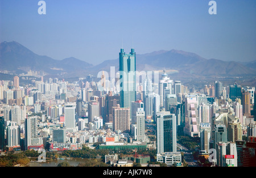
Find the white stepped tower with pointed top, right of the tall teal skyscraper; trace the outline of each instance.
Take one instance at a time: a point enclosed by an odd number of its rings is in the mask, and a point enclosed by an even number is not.
[[[172,94],[172,80],[168,77],[166,71],[162,74],[159,80],[159,96],[160,96],[160,107],[164,107],[166,94]]]

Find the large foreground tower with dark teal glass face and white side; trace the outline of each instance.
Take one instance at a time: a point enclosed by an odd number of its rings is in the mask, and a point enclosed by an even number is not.
[[[157,152],[176,152],[176,115],[169,111],[160,111],[157,114]]]

